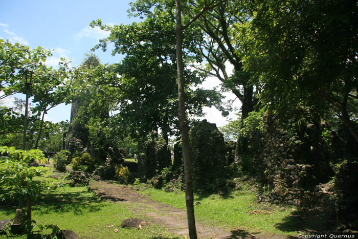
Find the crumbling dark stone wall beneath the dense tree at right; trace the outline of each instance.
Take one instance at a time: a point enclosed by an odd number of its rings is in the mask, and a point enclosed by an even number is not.
[[[311,204],[317,185],[333,176],[319,127],[307,123],[296,134],[289,135],[277,128],[269,116],[265,117],[266,135],[260,140],[262,150],[254,158],[258,179],[269,194],[260,195],[259,201]]]

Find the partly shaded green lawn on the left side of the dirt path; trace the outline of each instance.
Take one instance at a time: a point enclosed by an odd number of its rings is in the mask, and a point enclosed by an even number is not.
[[[15,210],[15,206],[0,205],[0,220],[13,218]],[[134,216],[125,204],[100,201],[86,187],[48,191],[34,203],[32,211],[37,224],[56,224],[60,229],[76,232],[79,238],[179,238],[157,225],[144,226],[141,230],[121,227],[126,218]],[[8,237],[0,235],[0,238]]]

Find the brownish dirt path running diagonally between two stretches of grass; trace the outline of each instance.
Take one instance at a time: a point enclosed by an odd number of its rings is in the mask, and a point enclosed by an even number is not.
[[[172,233],[187,236],[188,224],[186,211],[163,204],[145,197],[135,190],[118,184],[112,184],[104,181],[95,181],[89,188],[104,200],[110,200],[116,203],[128,204],[128,208],[136,215],[149,219],[153,224],[162,225],[168,228]],[[228,232],[219,228],[207,227],[196,223],[198,238],[252,238],[245,232]],[[281,238],[269,236],[270,238]],[[255,238],[268,238],[267,236],[257,236]]]

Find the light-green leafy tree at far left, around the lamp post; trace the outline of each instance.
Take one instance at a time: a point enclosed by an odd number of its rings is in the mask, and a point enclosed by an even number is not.
[[[65,91],[68,90],[69,82],[65,79],[71,78],[69,73],[69,62],[64,59],[59,63],[59,69],[53,70],[52,67],[47,67],[44,62],[47,57],[51,56],[51,51],[45,50],[41,47],[31,50],[28,46],[22,46],[18,43],[12,44],[9,40],[4,41],[0,39],[0,92],[3,93],[0,99],[5,99],[8,96],[16,93],[27,92],[26,81],[30,80],[27,76],[27,72],[32,72],[32,81],[30,82],[31,91],[29,96],[34,96],[33,103],[35,106],[32,108],[34,113],[37,111],[38,116],[42,112],[42,120],[38,125],[37,130],[29,128],[30,138],[32,138],[33,132],[37,132],[37,140],[35,147],[37,148],[39,139],[41,137],[43,118],[47,114],[47,111],[55,107],[59,103],[64,102]],[[2,111],[2,117],[4,119],[2,133],[10,133],[18,131],[19,120],[24,121],[24,117],[18,115],[16,112],[9,112],[7,110]],[[35,119],[36,117],[33,117]],[[10,120],[11,119],[11,120]],[[27,131],[27,122],[36,125],[37,121],[31,121],[27,119],[26,123],[21,124],[24,127],[24,131]],[[17,127],[15,129],[15,127]],[[24,138],[24,144],[27,138]]]

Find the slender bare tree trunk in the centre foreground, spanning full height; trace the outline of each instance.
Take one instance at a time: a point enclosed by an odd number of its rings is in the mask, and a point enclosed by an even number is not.
[[[187,206],[188,228],[189,237],[196,239],[196,226],[194,215],[194,195],[193,195],[193,182],[191,176],[191,159],[189,153],[189,126],[185,114],[185,92],[184,92],[184,63],[183,63],[183,26],[182,26],[182,13],[181,2],[175,0],[176,4],[176,64],[177,64],[177,83],[178,83],[178,104],[179,104],[179,121],[180,130],[182,133],[183,145],[183,159],[184,159],[184,173],[185,173],[185,201]]]

